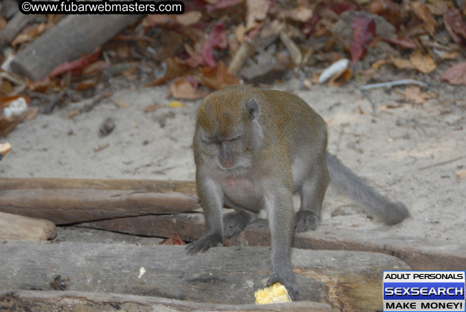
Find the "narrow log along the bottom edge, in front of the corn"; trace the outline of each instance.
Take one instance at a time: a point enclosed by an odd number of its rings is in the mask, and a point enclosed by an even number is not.
[[[286,304],[208,304],[150,296],[120,293],[89,293],[82,291],[0,291],[0,311],[61,312],[329,312],[329,304],[291,302]]]

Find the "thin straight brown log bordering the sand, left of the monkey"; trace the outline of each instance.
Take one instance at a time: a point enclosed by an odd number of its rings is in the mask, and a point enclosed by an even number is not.
[[[29,188],[141,190],[146,192],[180,192],[197,194],[195,181],[127,180],[127,179],[57,179],[57,178],[0,178],[0,190]]]

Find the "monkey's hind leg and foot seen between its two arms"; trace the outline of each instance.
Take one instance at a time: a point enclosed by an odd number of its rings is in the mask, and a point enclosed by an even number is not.
[[[240,234],[247,225],[256,222],[258,218],[258,214],[244,210],[226,198],[225,205],[236,210],[223,216],[223,234],[226,238]]]

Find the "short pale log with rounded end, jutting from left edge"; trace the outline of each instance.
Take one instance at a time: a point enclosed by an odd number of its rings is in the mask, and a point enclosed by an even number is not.
[[[48,220],[0,212],[0,241],[47,241],[55,236],[56,227]]]

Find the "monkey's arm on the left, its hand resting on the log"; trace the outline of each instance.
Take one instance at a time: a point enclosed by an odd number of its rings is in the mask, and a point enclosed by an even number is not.
[[[199,170],[198,170],[199,172]],[[217,181],[197,172],[197,193],[206,219],[206,231],[199,240],[186,246],[188,254],[206,252],[210,247],[223,243],[223,190]]]

